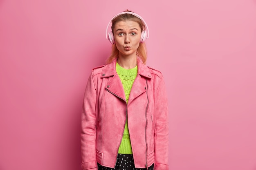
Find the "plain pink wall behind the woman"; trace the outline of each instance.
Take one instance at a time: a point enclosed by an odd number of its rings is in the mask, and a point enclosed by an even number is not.
[[[146,20],[169,101],[170,170],[256,170],[256,0],[0,0],[0,170],[80,170],[105,29]]]

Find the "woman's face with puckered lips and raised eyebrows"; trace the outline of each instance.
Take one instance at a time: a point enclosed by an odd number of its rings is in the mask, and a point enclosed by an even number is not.
[[[135,21],[120,21],[113,30],[119,57],[137,57],[141,28]]]

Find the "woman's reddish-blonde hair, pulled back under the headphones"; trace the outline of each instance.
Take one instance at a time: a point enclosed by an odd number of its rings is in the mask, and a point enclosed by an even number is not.
[[[132,12],[132,11],[126,10],[124,12]],[[139,24],[140,28],[141,28],[141,31],[146,29],[145,24],[144,24],[143,21],[141,21],[141,19],[139,19],[135,15],[132,15],[132,14],[129,14],[129,13],[124,13],[122,15],[117,16],[116,18],[114,18],[112,20],[112,26],[111,26],[112,32],[113,32],[117,22],[127,21],[127,20],[137,22]],[[143,64],[146,64],[147,50],[146,50],[145,42],[144,43],[139,43],[139,47],[137,49],[137,56],[139,57],[139,59],[141,59]],[[112,50],[111,50],[111,55],[107,59],[107,64],[110,64],[117,57],[119,57],[119,50],[117,49],[116,44],[113,44],[112,45]]]

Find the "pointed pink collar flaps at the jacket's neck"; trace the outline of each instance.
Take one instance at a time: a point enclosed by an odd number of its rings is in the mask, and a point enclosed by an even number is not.
[[[116,64],[117,64],[117,58],[115,58],[110,64],[107,64],[102,70],[101,78],[111,77],[117,74]],[[147,66],[145,66],[141,62],[141,60],[139,59],[137,60],[137,65],[138,65],[138,75],[151,79],[150,69]]]

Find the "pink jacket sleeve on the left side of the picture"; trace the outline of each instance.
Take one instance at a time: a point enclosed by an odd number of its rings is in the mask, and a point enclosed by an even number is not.
[[[97,170],[96,99],[97,91],[91,75],[85,88],[81,114],[81,166],[83,170]]]

